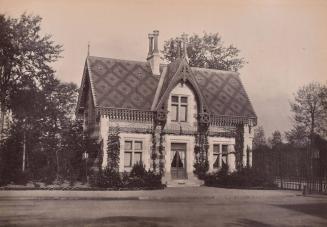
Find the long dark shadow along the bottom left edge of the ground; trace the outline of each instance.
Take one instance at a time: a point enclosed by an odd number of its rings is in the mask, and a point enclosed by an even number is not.
[[[33,217],[39,224],[31,223],[31,216],[5,216],[0,218],[0,226],[108,226],[108,227],[173,227],[176,220],[162,217],[114,216],[105,218],[58,220]],[[15,220],[15,221],[10,221]]]

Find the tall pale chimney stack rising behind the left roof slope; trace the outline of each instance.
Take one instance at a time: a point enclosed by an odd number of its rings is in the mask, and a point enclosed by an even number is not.
[[[160,75],[160,56],[158,49],[158,36],[159,31],[154,30],[152,34],[149,34],[149,53],[147,61],[150,63],[152,74]]]

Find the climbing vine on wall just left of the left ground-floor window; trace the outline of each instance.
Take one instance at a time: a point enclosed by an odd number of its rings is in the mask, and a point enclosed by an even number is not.
[[[114,171],[119,171],[120,161],[120,129],[118,126],[109,129],[107,154],[108,154],[108,168]]]

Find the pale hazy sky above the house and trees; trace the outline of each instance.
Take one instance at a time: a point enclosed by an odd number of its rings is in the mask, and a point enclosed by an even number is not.
[[[266,136],[291,128],[289,102],[312,81],[327,81],[327,1],[318,0],[0,0],[0,13],[43,18],[42,32],[62,44],[54,64],[62,81],[80,85],[90,54],[145,61],[147,34],[164,40],[218,32],[248,64],[241,80]]]

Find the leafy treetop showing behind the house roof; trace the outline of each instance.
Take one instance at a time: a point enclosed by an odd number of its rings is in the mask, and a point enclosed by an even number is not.
[[[164,42],[162,51],[164,59],[174,61],[178,55],[179,37]],[[206,67],[211,69],[238,71],[246,63],[239,57],[240,50],[233,45],[224,46],[218,33],[204,33],[203,36],[193,34],[189,38],[187,54],[189,65],[193,67]]]

